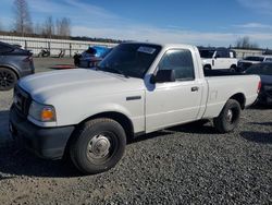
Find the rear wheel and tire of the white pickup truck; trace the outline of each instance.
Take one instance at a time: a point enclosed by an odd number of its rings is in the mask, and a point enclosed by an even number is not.
[[[240,117],[240,105],[235,99],[228,99],[220,112],[219,117],[213,119],[214,128],[220,133],[232,132],[238,124]]]

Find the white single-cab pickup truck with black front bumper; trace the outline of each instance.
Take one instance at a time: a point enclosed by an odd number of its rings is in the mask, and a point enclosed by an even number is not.
[[[209,72],[206,77],[194,46],[121,44],[97,69],[22,79],[10,131],[41,157],[67,154],[84,173],[106,171],[139,134],[201,119],[233,131],[240,110],[256,100],[260,79]]]

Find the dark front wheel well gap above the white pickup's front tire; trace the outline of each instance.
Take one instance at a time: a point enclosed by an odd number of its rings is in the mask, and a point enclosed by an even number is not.
[[[112,120],[115,120],[116,122],[119,122],[123,126],[127,138],[134,136],[134,128],[133,128],[132,121],[125,114],[120,113],[120,112],[111,111],[111,112],[98,113],[98,114],[95,114],[95,116],[87,118],[86,120],[84,120],[79,124],[82,124],[86,121],[92,120],[92,119],[97,119],[97,118],[110,118]]]

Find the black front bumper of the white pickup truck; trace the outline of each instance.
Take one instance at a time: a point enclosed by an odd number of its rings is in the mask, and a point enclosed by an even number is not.
[[[62,158],[73,131],[73,125],[61,128],[37,126],[21,116],[15,106],[11,107],[10,132],[13,138],[39,157]]]

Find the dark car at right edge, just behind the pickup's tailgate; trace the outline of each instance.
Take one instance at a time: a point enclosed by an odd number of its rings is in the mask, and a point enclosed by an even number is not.
[[[249,67],[246,74],[257,74],[261,77],[261,89],[258,102],[272,105],[272,62],[262,62]]]

